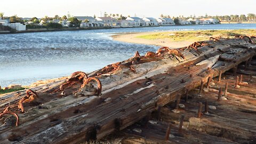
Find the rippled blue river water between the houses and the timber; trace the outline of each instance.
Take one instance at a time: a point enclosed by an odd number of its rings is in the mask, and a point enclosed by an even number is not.
[[[157,46],[117,42],[110,35],[166,30],[255,29],[256,24],[118,28],[0,35],[0,85],[29,85],[37,80],[91,71],[145,54]]]

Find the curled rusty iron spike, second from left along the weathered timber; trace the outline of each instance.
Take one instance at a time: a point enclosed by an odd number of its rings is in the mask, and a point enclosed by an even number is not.
[[[26,96],[21,98],[19,100],[19,102],[17,103],[18,104],[18,109],[21,110],[21,113],[24,113],[24,111],[25,111],[22,103],[33,101],[37,97],[38,97],[38,94],[35,91],[27,90],[26,91]]]

